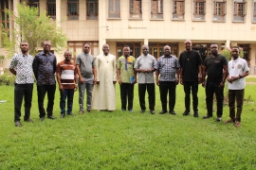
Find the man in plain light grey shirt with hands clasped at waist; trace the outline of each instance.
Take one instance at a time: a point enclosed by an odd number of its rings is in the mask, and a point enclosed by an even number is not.
[[[155,57],[149,54],[149,46],[142,46],[142,55],[136,60],[135,71],[138,73],[138,97],[140,112],[146,110],[145,93],[146,90],[149,96],[149,109],[152,114],[155,114]]]

